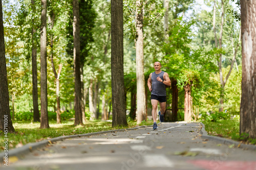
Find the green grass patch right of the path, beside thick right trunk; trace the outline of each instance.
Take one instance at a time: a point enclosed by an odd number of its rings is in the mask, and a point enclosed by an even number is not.
[[[248,134],[239,133],[239,120],[218,120],[217,122],[202,122],[208,135],[219,136],[237,140],[246,144],[256,144],[256,139],[251,139]]]

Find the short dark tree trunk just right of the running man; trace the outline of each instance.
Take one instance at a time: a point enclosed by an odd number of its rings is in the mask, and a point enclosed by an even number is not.
[[[178,120],[178,87],[177,81],[172,80],[172,90],[173,90],[173,98],[172,98],[172,120]]]

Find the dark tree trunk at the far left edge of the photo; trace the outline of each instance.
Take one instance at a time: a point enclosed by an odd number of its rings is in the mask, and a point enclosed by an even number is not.
[[[0,2],[0,10],[0,130],[3,132],[14,133],[15,130],[12,126],[9,108],[2,1]]]

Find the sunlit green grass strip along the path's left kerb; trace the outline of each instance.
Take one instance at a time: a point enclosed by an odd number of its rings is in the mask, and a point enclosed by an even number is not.
[[[109,131],[114,129],[127,129],[143,125],[152,125],[152,121],[142,122],[137,125],[136,122],[130,121],[128,127],[112,128],[111,122],[103,122],[99,120],[87,121],[83,126],[74,126],[74,122],[62,121],[61,124],[56,124],[56,121],[49,121],[49,129],[40,129],[40,123],[29,121],[13,121],[13,127],[16,131],[14,134],[8,133],[8,149],[20,147],[27,143],[37,142],[49,138],[67,135],[78,135],[92,132]],[[4,151],[4,141],[6,137],[0,136],[0,152]]]

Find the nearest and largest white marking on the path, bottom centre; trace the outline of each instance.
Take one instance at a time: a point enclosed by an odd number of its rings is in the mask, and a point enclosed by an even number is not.
[[[143,158],[147,167],[174,167],[174,163],[164,155],[145,155]]]

